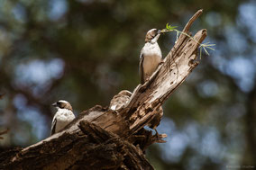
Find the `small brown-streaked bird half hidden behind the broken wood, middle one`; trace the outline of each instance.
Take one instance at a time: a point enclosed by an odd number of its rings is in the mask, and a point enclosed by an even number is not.
[[[113,99],[109,104],[109,108],[112,111],[121,109],[126,103],[128,103],[132,93],[128,90],[122,90],[119,94],[114,95]]]

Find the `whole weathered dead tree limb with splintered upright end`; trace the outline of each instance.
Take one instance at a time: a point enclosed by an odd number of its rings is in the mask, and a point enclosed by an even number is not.
[[[184,32],[202,13],[187,22]],[[145,149],[166,137],[143,127],[160,119],[161,105],[197,67],[197,49],[206,30],[194,40],[181,34],[151,79],[138,85],[118,112],[96,105],[81,112],[64,130],[27,147],[0,154],[2,169],[153,169]]]

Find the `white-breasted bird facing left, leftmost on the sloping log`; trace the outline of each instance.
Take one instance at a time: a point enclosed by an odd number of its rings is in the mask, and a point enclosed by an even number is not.
[[[67,101],[60,100],[57,103],[53,103],[52,106],[56,107],[58,111],[53,117],[50,135],[63,130],[69,124],[69,122],[75,119],[72,106]]]

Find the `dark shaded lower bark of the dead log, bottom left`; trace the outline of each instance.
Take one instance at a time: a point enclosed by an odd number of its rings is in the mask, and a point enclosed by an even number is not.
[[[17,150],[2,164],[9,169],[153,169],[139,148],[118,135],[88,121],[79,121],[78,128],[77,134],[64,133],[43,143],[43,148]]]

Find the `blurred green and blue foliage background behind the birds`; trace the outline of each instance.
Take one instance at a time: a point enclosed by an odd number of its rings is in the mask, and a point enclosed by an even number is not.
[[[215,43],[164,104],[158,127],[167,143],[147,152],[158,170],[255,168],[256,1],[253,0],[1,0],[0,151],[26,147],[50,134],[65,99],[76,114],[108,105],[139,84],[144,36],[166,23],[206,28]],[[175,33],[160,37],[166,56]]]

